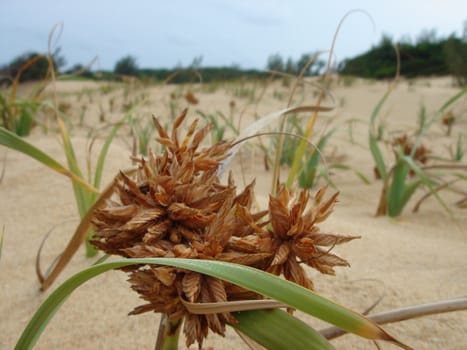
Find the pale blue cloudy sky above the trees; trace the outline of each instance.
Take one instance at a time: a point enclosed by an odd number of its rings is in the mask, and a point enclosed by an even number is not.
[[[435,30],[461,36],[466,0],[0,0],[0,65],[27,52],[47,52],[50,30],[63,23],[55,47],[67,66],[113,69],[126,55],[140,68],[201,65],[264,69],[271,54],[297,60],[328,51],[340,20],[334,58]],[[371,19],[370,17],[371,16]],[[326,57],[323,57],[326,58]]]

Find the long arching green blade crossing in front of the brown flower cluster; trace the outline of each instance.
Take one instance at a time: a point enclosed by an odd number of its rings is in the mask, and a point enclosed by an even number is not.
[[[381,339],[410,349],[410,347],[396,340],[377,324],[364,316],[346,309],[304,287],[283,280],[261,270],[248,266],[226,263],[221,261],[207,261],[198,259],[179,258],[146,258],[123,259],[91,266],[70,277],[59,286],[43,302],[33,318],[21,334],[16,350],[31,349],[50,319],[58,311],[60,305],[81,284],[89,279],[109,271],[133,264],[156,264],[188,269],[212,277],[220,278],[243,288],[255,291],[266,297],[301,310],[309,315],[318,317],[348,332],[355,333],[368,339]]]

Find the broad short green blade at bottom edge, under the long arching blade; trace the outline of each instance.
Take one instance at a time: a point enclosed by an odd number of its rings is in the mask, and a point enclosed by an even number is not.
[[[282,310],[243,311],[231,326],[269,350],[331,350],[334,347],[303,321]]]

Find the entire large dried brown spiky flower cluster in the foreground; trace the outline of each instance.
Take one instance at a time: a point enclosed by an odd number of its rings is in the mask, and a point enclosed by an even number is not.
[[[166,147],[161,155],[137,159],[134,178],[123,173],[116,195],[95,211],[93,244],[124,257],[177,257],[220,260],[260,268],[312,288],[301,264],[333,274],[334,266],[347,261],[331,254],[336,244],[355,237],[320,233],[316,224],[331,213],[337,194],[324,200],[325,189],[310,200],[307,191],[296,196],[281,187],[270,197],[269,210],[254,212],[254,183],[237,193],[231,176],[222,185],[220,162],[231,143],[200,149],[209,126],[191,124],[183,141],[178,128],[172,134],[155,120]],[[311,207],[310,207],[311,202]],[[147,303],[131,314],[146,311],[184,318],[187,346],[201,347],[208,330],[223,335],[225,323],[236,322],[229,313],[195,315],[182,303],[224,302],[261,296],[224,281],[183,269],[162,266],[126,268],[132,289]]]

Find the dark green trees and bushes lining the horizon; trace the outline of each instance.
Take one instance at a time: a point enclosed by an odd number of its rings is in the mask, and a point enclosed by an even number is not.
[[[396,74],[398,52],[402,76],[412,78],[452,75],[460,84],[465,85],[467,84],[467,22],[464,27],[462,37],[452,34],[447,38],[438,38],[434,31],[428,31],[423,32],[415,42],[404,39],[395,44],[388,35],[383,35],[380,42],[367,52],[340,62],[336,71],[342,75],[370,79],[391,78]],[[325,62],[313,53],[302,54],[298,59],[292,57],[284,59],[279,53],[272,54],[267,58],[265,70],[242,69],[239,66],[202,67],[202,57],[195,57],[187,67],[140,68],[136,57],[126,55],[115,63],[113,70],[96,72],[81,64],[63,70],[66,61],[60,49],[56,50],[51,58],[56,71],[89,79],[119,80],[122,76],[135,76],[158,81],[170,79],[172,83],[194,82],[199,80],[199,77],[202,77],[203,82],[245,77],[264,78],[271,74],[270,71],[313,76],[321,74],[325,67]],[[21,81],[44,79],[49,70],[49,60],[45,55],[28,52],[0,67],[0,80],[11,81],[21,67],[33,59],[34,63],[22,72]]]

